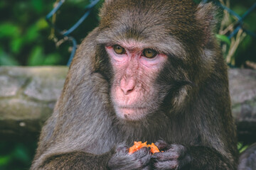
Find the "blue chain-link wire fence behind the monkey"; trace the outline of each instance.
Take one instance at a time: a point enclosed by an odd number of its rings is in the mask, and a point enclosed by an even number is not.
[[[55,29],[55,31],[57,31],[61,37],[65,40],[70,40],[73,43],[73,48],[72,48],[72,52],[70,54],[70,59],[68,60],[68,66],[70,65],[70,62],[73,60],[73,57],[75,55],[75,50],[77,48],[77,41],[75,40],[75,38],[73,38],[70,33],[72,33],[76,28],[78,28],[78,26],[80,26],[80,24],[85,21],[85,19],[87,18],[87,16],[89,16],[90,12],[92,11],[92,8],[95,7],[95,5],[99,2],[100,0],[91,0],[90,4],[85,6],[85,13],[83,16],[81,16],[81,18],[73,25],[71,26],[68,30],[62,30],[60,28],[58,28],[58,26],[55,26],[55,23],[53,23],[52,21],[50,21],[50,18],[52,18],[55,13],[60,9],[60,6],[63,5],[63,3],[65,2],[65,0],[60,0],[55,4],[55,7],[53,8],[52,11],[50,11],[50,13],[48,13],[48,15],[46,16],[46,21],[49,23],[49,25]],[[252,36],[253,38],[256,38],[256,33],[253,33],[250,30],[247,30],[246,28],[244,28],[244,21],[245,18],[250,15],[250,13],[252,13],[252,11],[255,10],[256,8],[256,2],[255,4],[252,4],[252,6],[242,15],[238,15],[238,13],[235,13],[235,11],[231,10],[230,8],[228,8],[227,6],[223,5],[222,3],[220,3],[220,1],[215,1],[215,0],[203,0],[203,3],[207,3],[209,1],[213,1],[213,3],[217,6],[220,6],[220,8],[223,8],[225,11],[227,11],[231,16],[233,16],[234,18],[236,18],[235,23],[233,23],[233,31],[231,31],[228,35],[228,39],[231,39],[233,37],[235,37],[235,35],[237,35],[239,33],[240,30],[242,30],[243,33],[246,33],[247,35]],[[231,55],[233,54],[233,52],[231,51]],[[231,64],[231,56],[227,56],[227,60],[228,60],[228,64]]]

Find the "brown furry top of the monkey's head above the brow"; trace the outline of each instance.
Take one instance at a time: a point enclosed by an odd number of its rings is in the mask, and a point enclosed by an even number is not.
[[[186,43],[202,35],[196,21],[192,0],[110,0],[103,6],[100,30],[110,30],[114,37],[163,41],[171,35]],[[113,38],[113,37],[112,37]]]

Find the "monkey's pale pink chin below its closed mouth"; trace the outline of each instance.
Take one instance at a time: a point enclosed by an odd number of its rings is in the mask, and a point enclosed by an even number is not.
[[[129,121],[142,120],[147,113],[146,108],[116,107],[115,110],[119,118]]]

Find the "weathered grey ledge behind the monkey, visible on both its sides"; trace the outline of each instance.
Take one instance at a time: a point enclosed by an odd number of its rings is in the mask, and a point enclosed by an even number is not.
[[[0,139],[36,140],[53,112],[68,67],[0,67]],[[230,69],[239,140],[256,141],[256,71]]]

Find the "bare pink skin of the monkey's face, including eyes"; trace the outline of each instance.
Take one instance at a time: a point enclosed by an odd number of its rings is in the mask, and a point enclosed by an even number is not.
[[[119,118],[139,120],[154,106],[154,80],[167,56],[137,42],[106,46],[114,69],[111,97]]]

